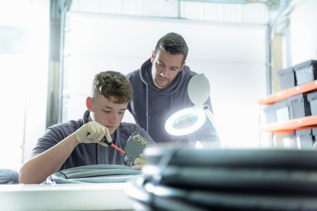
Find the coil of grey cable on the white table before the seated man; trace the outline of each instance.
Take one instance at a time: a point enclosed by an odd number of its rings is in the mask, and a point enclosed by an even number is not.
[[[89,165],[55,172],[41,184],[125,182],[140,175],[140,170],[122,165]]]

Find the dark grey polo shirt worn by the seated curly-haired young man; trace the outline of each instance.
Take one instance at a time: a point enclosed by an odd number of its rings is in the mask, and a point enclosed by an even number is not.
[[[74,133],[81,126],[86,124],[86,118],[89,111],[84,113],[83,119],[69,121],[49,127],[44,135],[38,139],[33,153],[42,153],[61,140]],[[125,148],[128,138],[133,132],[139,133],[152,145],[155,145],[153,139],[139,125],[133,123],[121,123],[117,130],[111,135],[114,144],[123,149]],[[79,166],[97,165],[97,164],[116,164],[122,165],[124,154],[113,147],[104,147],[100,144],[79,144],[75,147],[72,154],[66,159],[60,170],[69,169]]]

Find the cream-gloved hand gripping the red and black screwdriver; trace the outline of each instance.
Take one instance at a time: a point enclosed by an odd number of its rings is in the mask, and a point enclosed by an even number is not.
[[[106,143],[101,141],[104,135],[106,135],[107,141],[111,142],[108,128],[95,121],[84,124],[81,128],[75,131],[75,134],[79,143],[97,143],[108,147]]]

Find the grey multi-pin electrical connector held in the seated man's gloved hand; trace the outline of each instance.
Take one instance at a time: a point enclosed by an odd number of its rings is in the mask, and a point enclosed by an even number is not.
[[[126,155],[124,157],[123,165],[129,166],[135,158],[139,157],[145,147],[150,146],[152,145],[144,137],[139,133],[134,132],[127,140],[127,144],[124,148]]]

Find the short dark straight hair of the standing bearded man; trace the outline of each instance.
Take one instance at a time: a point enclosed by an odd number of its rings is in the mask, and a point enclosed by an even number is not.
[[[155,46],[155,55],[159,51],[159,48],[170,54],[183,54],[184,60],[187,58],[188,46],[185,39],[174,32],[167,33],[159,41],[157,41]]]

